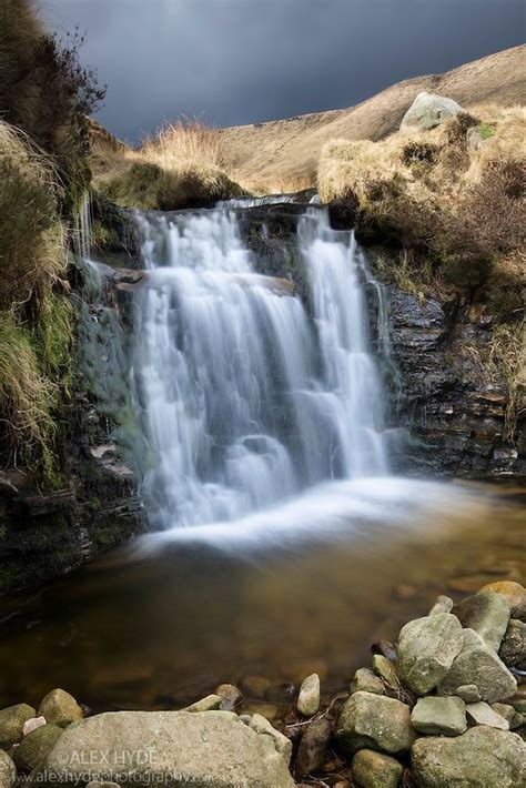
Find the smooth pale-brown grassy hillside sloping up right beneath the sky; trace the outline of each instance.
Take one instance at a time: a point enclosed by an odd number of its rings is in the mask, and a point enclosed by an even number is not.
[[[526,47],[516,47],[443,74],[405,80],[347,110],[223,129],[225,169],[261,192],[312,185],[325,142],[391,134],[419,91],[448,95],[466,109],[526,103],[525,67]]]

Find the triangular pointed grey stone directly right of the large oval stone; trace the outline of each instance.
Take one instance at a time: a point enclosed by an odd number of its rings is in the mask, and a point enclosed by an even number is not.
[[[458,687],[475,685],[482,700],[512,697],[517,681],[495,651],[473,629],[464,629],[463,638],[462,651],[438,685],[438,695],[456,695]]]

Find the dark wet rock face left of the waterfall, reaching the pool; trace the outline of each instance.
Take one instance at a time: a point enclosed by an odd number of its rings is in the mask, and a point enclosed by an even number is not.
[[[122,307],[97,270],[77,270],[74,384],[60,488],[0,472],[0,595],[31,588],[144,527],[136,478],[115,435],[129,415]]]

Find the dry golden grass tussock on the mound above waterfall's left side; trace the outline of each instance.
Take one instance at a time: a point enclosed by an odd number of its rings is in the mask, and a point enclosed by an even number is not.
[[[92,133],[94,185],[124,208],[176,210],[242,193],[222,169],[223,140],[199,120],[164,125],[131,149]]]

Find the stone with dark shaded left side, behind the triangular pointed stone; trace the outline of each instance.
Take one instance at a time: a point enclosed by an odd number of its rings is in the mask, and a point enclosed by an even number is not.
[[[489,648],[498,651],[509,622],[509,602],[505,596],[481,592],[459,602],[453,612],[463,627],[478,633]]]

